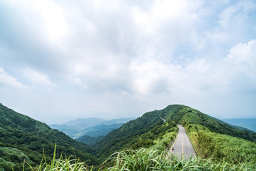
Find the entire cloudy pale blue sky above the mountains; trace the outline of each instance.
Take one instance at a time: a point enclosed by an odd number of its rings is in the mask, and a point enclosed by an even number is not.
[[[0,103],[44,123],[256,118],[256,1],[0,0]]]

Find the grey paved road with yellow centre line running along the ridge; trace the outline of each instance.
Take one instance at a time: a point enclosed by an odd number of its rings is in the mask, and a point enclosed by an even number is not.
[[[195,157],[193,146],[188,138],[187,133],[185,132],[185,129],[182,125],[178,125],[178,127],[179,133],[173,145],[173,154],[186,159],[189,159],[190,157]]]

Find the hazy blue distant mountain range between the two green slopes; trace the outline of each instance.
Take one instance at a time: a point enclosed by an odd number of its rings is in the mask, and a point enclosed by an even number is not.
[[[113,120],[105,120],[102,118],[78,118],[70,120],[63,125],[53,124],[49,125],[53,129],[57,129],[66,133],[73,139],[80,138],[83,135],[91,137],[98,137],[107,135],[111,130],[117,129],[135,118],[118,118]]]

